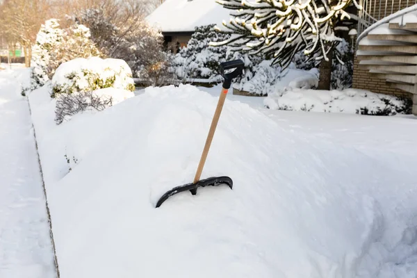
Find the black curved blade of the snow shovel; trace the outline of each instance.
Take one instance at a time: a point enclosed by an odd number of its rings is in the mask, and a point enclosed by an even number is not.
[[[233,188],[233,181],[229,177],[211,177],[208,179],[199,180],[196,183],[186,183],[183,186],[174,187],[162,195],[161,198],[159,198],[158,202],[156,203],[156,208],[161,206],[161,204],[165,202],[166,199],[177,193],[190,190],[191,194],[195,195],[197,194],[197,188],[199,187],[220,186],[221,184],[226,184],[230,189]]]

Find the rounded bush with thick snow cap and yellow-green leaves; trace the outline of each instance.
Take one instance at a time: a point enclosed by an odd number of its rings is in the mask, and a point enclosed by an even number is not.
[[[52,78],[52,97],[101,88],[135,90],[132,72],[124,60],[76,58],[62,63]]]

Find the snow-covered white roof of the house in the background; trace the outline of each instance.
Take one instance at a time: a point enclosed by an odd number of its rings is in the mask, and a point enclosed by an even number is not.
[[[215,0],[165,0],[146,20],[162,32],[193,32],[196,26],[221,27],[230,12]]]

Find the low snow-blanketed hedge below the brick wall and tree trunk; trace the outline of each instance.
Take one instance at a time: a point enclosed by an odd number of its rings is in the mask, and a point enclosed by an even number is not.
[[[274,93],[264,100],[267,108],[288,111],[356,113],[361,115],[409,114],[407,99],[366,90],[300,90]]]

